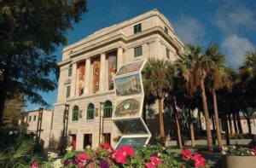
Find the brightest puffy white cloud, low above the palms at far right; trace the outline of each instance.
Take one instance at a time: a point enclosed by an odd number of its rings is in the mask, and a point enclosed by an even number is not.
[[[239,67],[244,61],[245,53],[248,49],[255,49],[253,43],[247,38],[240,38],[236,34],[224,38],[221,45],[226,54],[226,61],[228,66]]]

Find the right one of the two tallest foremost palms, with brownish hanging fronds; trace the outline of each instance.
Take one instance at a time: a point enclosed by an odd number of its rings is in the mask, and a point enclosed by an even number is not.
[[[214,111],[214,118],[216,123],[216,132],[217,132],[217,139],[218,139],[218,148],[222,148],[222,139],[221,139],[221,132],[218,122],[218,103],[217,103],[217,96],[216,90],[224,87],[226,84],[227,77],[226,73],[224,72],[224,55],[222,55],[218,49],[218,45],[210,44],[208,49],[206,50],[206,57],[207,57],[207,77],[210,79],[210,88],[212,93],[212,100],[213,100],[213,111]]]

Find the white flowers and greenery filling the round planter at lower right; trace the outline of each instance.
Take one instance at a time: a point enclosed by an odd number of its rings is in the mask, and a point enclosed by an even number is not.
[[[221,153],[231,156],[256,156],[256,148],[244,148],[238,145],[224,146]]]

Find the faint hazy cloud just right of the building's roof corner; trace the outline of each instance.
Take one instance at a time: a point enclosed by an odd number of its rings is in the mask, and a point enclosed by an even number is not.
[[[204,36],[204,27],[199,20],[193,17],[182,15],[177,21],[173,22],[177,36],[184,43],[200,44]]]

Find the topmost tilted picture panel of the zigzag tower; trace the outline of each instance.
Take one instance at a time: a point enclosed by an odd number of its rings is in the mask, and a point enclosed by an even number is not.
[[[140,71],[140,69],[143,67],[143,61],[136,61],[136,62],[132,62],[131,64],[127,64],[123,67],[121,67],[119,69],[119,72],[116,74],[118,75],[124,75],[126,73],[130,73],[130,72],[137,72]]]

